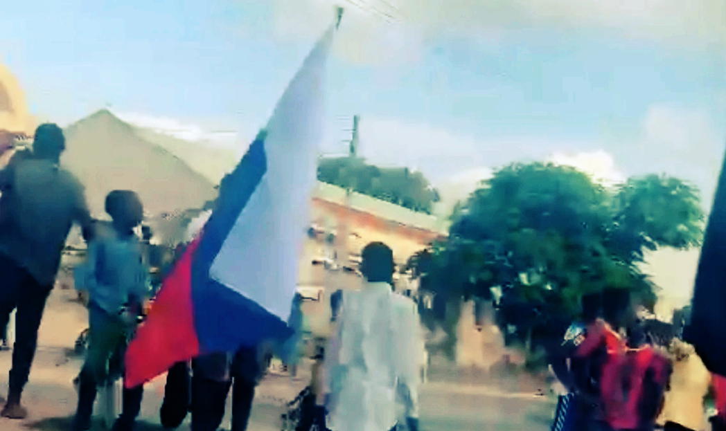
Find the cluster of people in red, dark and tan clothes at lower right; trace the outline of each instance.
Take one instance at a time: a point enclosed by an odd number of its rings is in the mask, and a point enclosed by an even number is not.
[[[712,390],[713,431],[725,430],[722,377],[711,375],[693,346],[650,334],[627,290],[582,298],[582,319],[550,352],[561,395],[552,431],[699,431]]]

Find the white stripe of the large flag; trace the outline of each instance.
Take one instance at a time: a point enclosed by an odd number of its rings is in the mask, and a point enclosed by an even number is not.
[[[305,59],[267,124],[267,170],[213,260],[210,276],[287,320],[309,223],[322,83],[331,27]]]

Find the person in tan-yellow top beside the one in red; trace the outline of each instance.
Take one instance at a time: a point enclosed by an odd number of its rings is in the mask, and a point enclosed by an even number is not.
[[[666,431],[705,430],[703,398],[709,392],[711,373],[687,342],[674,338],[668,350],[673,368],[658,422],[665,424]]]

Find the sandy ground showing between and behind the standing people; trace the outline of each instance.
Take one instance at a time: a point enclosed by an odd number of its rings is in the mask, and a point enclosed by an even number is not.
[[[38,340],[38,353],[26,387],[23,402],[30,410],[24,421],[0,419],[0,431],[60,431],[70,429],[70,416],[76,408],[76,392],[71,385],[81,366],[81,358],[69,356],[76,337],[86,327],[86,311],[73,302],[73,290],[56,289],[49,297]],[[7,391],[10,352],[0,352],[0,394]],[[423,430],[547,430],[553,410],[552,400],[534,395],[536,384],[517,382],[493,385],[473,377],[435,373],[434,381],[422,388],[421,424]],[[250,430],[280,430],[280,414],[285,402],[294,398],[305,383],[301,379],[270,375],[258,387]],[[147,385],[138,431],[160,431],[158,411],[165,379]],[[229,409],[228,409],[229,411]],[[223,427],[229,429],[229,418]],[[102,430],[94,424],[94,430]],[[181,431],[189,430],[183,424]]]

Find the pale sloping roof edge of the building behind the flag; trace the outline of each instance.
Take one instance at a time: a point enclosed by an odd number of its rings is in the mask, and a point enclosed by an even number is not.
[[[333,202],[338,205],[346,205],[346,190],[333,184],[318,181],[313,197]],[[366,194],[353,192],[351,194],[350,207],[353,210],[369,213],[389,221],[395,221],[405,226],[412,226],[417,229],[436,232],[446,235],[449,222],[426,213],[417,213],[400,205],[376,199]]]

